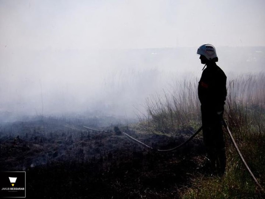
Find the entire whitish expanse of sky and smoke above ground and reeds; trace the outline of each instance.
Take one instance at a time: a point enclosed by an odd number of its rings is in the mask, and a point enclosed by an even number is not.
[[[225,72],[259,71],[264,48],[224,46],[265,46],[264,10],[264,0],[0,0],[0,115],[131,114],[167,81],[199,78],[203,43]]]

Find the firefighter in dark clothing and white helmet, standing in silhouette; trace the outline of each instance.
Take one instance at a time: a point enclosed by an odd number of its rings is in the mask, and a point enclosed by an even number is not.
[[[200,55],[199,59],[201,63],[205,64],[198,85],[198,97],[201,102],[203,141],[213,171],[224,174],[226,155],[222,124],[227,94],[226,75],[216,65],[218,57],[213,45],[204,44],[200,46],[197,54]]]

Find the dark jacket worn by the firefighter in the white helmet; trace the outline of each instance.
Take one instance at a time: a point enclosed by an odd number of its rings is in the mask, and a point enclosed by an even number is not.
[[[214,62],[203,70],[199,81],[198,96],[204,108],[223,111],[226,99],[226,76]]]

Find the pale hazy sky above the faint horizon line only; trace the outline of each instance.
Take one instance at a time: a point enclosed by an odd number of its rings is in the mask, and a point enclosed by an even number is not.
[[[0,0],[0,48],[265,45],[264,0]]]

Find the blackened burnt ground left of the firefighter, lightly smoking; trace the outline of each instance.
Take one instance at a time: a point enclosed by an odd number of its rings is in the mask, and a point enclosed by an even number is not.
[[[179,198],[194,175],[205,172],[198,169],[205,154],[198,138],[179,150],[157,152],[114,132],[114,126],[96,132],[82,125],[97,127],[54,118],[5,124],[0,171],[26,171],[27,198]],[[159,149],[191,135],[122,131]]]

